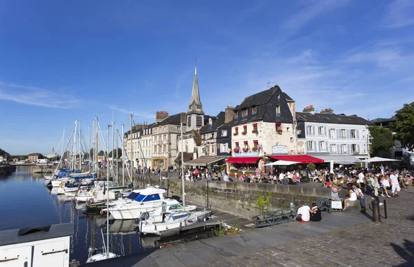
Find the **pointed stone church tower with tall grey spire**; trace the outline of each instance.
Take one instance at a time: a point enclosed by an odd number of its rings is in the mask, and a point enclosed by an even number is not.
[[[190,104],[187,111],[187,131],[198,130],[204,126],[204,111],[200,101],[200,94],[197,80],[197,66],[195,67],[193,92],[191,92]]]

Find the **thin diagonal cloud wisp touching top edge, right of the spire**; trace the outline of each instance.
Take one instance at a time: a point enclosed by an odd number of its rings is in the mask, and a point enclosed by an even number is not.
[[[286,21],[286,28],[296,30],[316,17],[345,6],[349,0],[305,1],[306,6]]]

